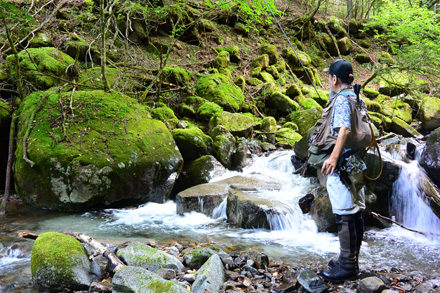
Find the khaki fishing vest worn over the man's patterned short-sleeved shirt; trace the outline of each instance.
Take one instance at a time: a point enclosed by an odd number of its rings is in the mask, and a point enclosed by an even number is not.
[[[332,135],[330,122],[333,108],[339,96],[345,96],[350,103],[351,131],[344,148],[365,151],[371,144],[373,133],[370,128],[370,117],[363,100],[357,102],[356,94],[352,91],[343,91],[337,94],[324,109],[321,119],[315,124],[315,131],[311,137],[311,146],[320,150],[328,149],[336,144],[337,136]]]

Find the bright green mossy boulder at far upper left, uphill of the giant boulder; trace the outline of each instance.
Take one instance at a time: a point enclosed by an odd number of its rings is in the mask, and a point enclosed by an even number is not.
[[[52,47],[29,48],[20,51],[18,57],[22,78],[39,89],[48,89],[64,83],[59,77],[67,79],[66,69],[75,63],[72,57]],[[6,61],[12,75],[16,76],[15,56],[9,55]]]

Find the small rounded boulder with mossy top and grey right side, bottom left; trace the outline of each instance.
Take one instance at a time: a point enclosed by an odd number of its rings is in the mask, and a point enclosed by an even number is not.
[[[74,237],[48,232],[35,240],[31,254],[32,281],[43,291],[87,290],[92,266],[82,244]]]

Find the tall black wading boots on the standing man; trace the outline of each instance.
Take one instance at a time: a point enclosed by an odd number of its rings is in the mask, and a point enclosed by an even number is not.
[[[344,281],[356,277],[359,273],[357,265],[357,237],[354,215],[336,215],[340,254],[338,263],[333,261],[329,270],[324,270],[321,276],[327,281]],[[332,261],[330,261],[332,262]],[[329,263],[330,266],[330,263]]]

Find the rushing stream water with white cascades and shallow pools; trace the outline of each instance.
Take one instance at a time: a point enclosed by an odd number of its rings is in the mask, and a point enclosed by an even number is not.
[[[176,204],[148,203],[132,209],[107,209],[82,214],[61,214],[34,211],[11,206],[11,212],[0,219],[0,291],[34,292],[31,284],[30,253],[32,240],[17,233],[30,231],[76,231],[110,244],[154,239],[161,245],[174,241],[182,244],[212,242],[224,249],[264,252],[275,261],[292,265],[325,264],[338,253],[335,235],[318,233],[309,215],[302,214],[298,200],[312,186],[308,179],[293,175],[292,151],[279,151],[267,157],[256,157],[242,173],[228,172],[213,181],[230,176],[264,178],[282,186],[279,191],[262,193],[270,200],[282,202],[286,216],[271,216],[272,230],[242,229],[226,222],[226,201],[212,217],[199,213],[176,214]],[[440,232],[439,219],[417,195],[417,163],[402,164],[400,178],[393,186],[392,210],[406,226],[425,232]],[[416,174],[416,175],[414,175]],[[398,226],[385,230],[369,230],[360,255],[361,269],[392,267],[439,276],[440,240],[424,237]]]

